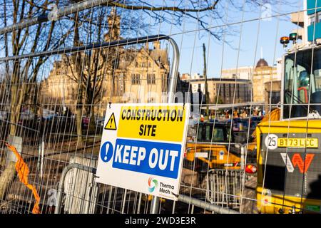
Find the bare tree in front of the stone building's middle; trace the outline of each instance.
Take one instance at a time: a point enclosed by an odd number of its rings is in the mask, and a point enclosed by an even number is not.
[[[75,15],[74,20],[74,41],[73,46],[78,46],[82,43],[79,36],[79,30],[88,31],[88,42],[99,43],[105,37],[103,34],[104,17],[106,15],[106,7],[98,10],[96,24],[92,23],[83,25],[80,28]],[[95,38],[93,38],[95,36]],[[78,143],[82,144],[82,113],[90,117],[88,132],[93,133],[95,130],[95,108],[94,105],[101,101],[101,92],[103,92],[103,80],[106,77],[107,71],[113,71],[116,61],[116,48],[101,48],[96,50],[88,50],[86,52],[73,53],[70,56],[66,55],[63,66],[68,66],[71,73],[66,76],[78,84],[78,95],[76,103],[76,128],[78,134]]]

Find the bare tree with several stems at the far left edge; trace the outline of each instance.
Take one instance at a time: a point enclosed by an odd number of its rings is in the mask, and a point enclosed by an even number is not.
[[[36,1],[34,0],[12,0],[11,2],[4,1],[3,11],[11,12],[4,14],[3,21],[12,21],[17,24],[21,21],[31,19],[48,11],[47,6],[51,3],[58,4],[59,0]],[[57,48],[66,40],[70,32],[63,35],[55,32],[56,21],[49,23],[38,24],[27,28],[21,28],[6,33],[4,35],[5,56],[19,56],[23,53],[35,53],[36,51],[47,51],[51,48]],[[6,71],[11,74],[9,76],[10,85],[10,135],[16,135],[16,125],[19,121],[21,106],[26,100],[33,100],[36,104],[37,90],[33,90],[33,85],[36,83],[37,76],[41,67],[46,63],[49,56],[39,58],[28,58],[26,60],[7,61]],[[32,93],[31,93],[32,92]],[[30,107],[36,113],[36,106]]]

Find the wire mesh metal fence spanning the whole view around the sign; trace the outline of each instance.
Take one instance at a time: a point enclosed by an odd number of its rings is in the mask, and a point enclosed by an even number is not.
[[[302,26],[300,15],[311,22],[319,9],[308,7],[4,0],[0,213],[316,212],[320,170],[312,162],[319,161],[319,136],[313,134],[320,125],[311,120],[320,118],[319,44],[315,31],[312,41],[305,37],[311,32],[300,31],[308,23]],[[279,37],[292,29],[293,48],[278,58]],[[113,103],[190,104],[178,201],[95,181]],[[292,122],[300,118],[305,122]],[[292,146],[290,138],[304,145]],[[271,184],[277,174],[278,188]]]

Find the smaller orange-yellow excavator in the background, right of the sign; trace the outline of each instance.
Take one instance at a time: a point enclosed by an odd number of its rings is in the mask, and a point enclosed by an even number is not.
[[[242,165],[242,150],[246,137],[238,135],[233,128],[231,130],[230,123],[198,123],[197,132],[197,140],[186,143],[185,167],[190,164],[190,169],[206,173],[213,169],[240,170],[245,165]],[[256,155],[253,154],[255,146],[255,142],[248,145],[247,164],[256,163]]]

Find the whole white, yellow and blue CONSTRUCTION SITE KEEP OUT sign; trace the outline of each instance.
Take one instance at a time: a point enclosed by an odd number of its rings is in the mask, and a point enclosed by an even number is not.
[[[190,104],[111,104],[96,182],[178,199]]]

